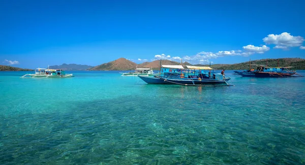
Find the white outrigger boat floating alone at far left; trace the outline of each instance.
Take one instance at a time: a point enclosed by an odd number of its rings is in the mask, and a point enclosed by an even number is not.
[[[65,71],[61,69],[44,69],[44,68],[37,68],[35,69],[35,74],[26,74],[20,78],[65,78],[65,77],[72,77],[73,74],[66,74]]]

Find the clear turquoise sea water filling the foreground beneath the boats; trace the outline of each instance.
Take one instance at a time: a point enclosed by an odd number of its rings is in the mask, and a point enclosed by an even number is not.
[[[305,163],[305,78],[226,71],[235,86],[192,87],[25,73],[0,72],[0,164]]]

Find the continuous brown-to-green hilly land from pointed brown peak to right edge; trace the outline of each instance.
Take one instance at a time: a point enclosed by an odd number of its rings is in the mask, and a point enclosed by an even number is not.
[[[260,64],[266,65],[267,59],[258,59],[251,61],[251,64]],[[171,61],[171,60],[162,60],[162,64],[167,65],[179,65],[180,62]],[[182,65],[195,65],[207,67],[209,64],[191,64],[189,62],[183,62]],[[302,58],[279,58],[280,67],[294,67],[293,70],[305,70],[305,59]],[[278,59],[268,59],[268,67],[277,67]],[[90,71],[126,71],[126,70],[135,70],[136,68],[153,68],[158,70],[160,67],[160,60],[155,60],[152,62],[144,62],[137,64],[133,61],[130,61],[126,58],[118,58],[114,61],[100,64],[96,67],[90,68]],[[234,63],[234,64],[211,64],[211,68],[215,70],[247,70],[249,69],[249,61]],[[255,69],[255,66],[252,66]]]

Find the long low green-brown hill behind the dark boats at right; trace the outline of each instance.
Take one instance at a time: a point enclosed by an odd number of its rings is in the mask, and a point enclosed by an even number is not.
[[[250,68],[250,61],[234,63],[234,64],[212,64],[211,68],[215,70],[248,70]],[[258,59],[251,61],[251,68],[256,69],[257,65],[266,65],[267,59]],[[206,66],[197,64],[196,66]],[[280,67],[293,67],[293,70],[305,70],[305,59],[302,58],[279,58]],[[278,59],[268,59],[268,67],[278,67]]]

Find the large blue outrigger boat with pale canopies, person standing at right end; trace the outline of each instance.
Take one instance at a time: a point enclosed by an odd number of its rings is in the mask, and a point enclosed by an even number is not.
[[[210,67],[186,65],[161,65],[160,74],[150,77],[138,76],[148,84],[178,84],[205,86],[205,84],[225,84],[231,79],[222,74],[211,72]],[[213,70],[214,71],[214,70]]]

